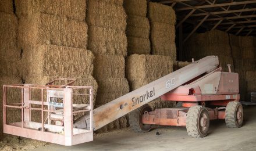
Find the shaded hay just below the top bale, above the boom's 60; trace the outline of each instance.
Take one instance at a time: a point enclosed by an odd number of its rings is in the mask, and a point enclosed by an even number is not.
[[[175,26],[151,23],[150,38],[153,55],[172,56],[173,59],[176,59]]]

